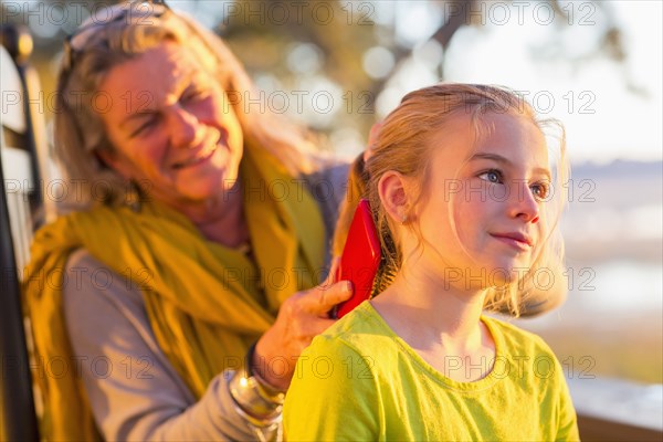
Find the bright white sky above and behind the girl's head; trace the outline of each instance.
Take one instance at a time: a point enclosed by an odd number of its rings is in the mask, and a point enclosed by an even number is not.
[[[503,7],[494,8],[501,3]],[[462,28],[445,54],[445,80],[501,84],[524,91],[539,113],[560,119],[567,129],[567,149],[573,162],[610,162],[615,159],[661,160],[662,139],[662,2],[609,1],[614,20],[623,32],[627,59],[622,65],[597,59],[575,66],[566,60],[545,56],[552,25],[546,10],[536,2],[487,2],[487,25]],[[596,41],[604,20],[589,2],[567,3],[573,9],[572,25],[554,40],[565,44],[565,55],[573,56]],[[397,8],[402,22],[398,32],[415,40],[430,32],[436,19],[421,2]],[[491,25],[492,24],[492,25]],[[434,25],[434,24],[432,24]],[[423,86],[430,75],[407,76],[406,88]],[[643,94],[628,90],[631,78]],[[421,83],[421,84],[417,84]],[[383,108],[393,105],[392,94]]]

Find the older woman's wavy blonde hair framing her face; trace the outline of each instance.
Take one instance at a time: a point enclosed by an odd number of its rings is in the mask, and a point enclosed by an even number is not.
[[[245,149],[263,149],[292,176],[312,171],[314,159],[307,152],[314,148],[308,133],[269,110],[242,112],[242,101],[253,93],[254,87],[223,41],[186,15],[170,10],[158,13],[158,7],[125,3],[109,7],[105,13],[97,11],[96,15],[110,17],[110,20],[99,23],[88,19],[72,39],[72,43],[84,40],[80,48],[65,53],[55,103],[55,155],[67,178],[84,185],[83,201],[77,200],[76,206],[88,206],[93,199],[113,204],[133,198],[135,187],[101,161],[96,154],[113,149],[113,146],[93,99],[86,98],[102,93],[99,86],[114,66],[166,41],[187,46],[229,96],[240,97],[229,102],[243,130]],[[208,59],[213,60],[213,66],[204,63]],[[97,186],[101,183],[104,186]],[[95,189],[94,198],[91,198],[92,189]]]

